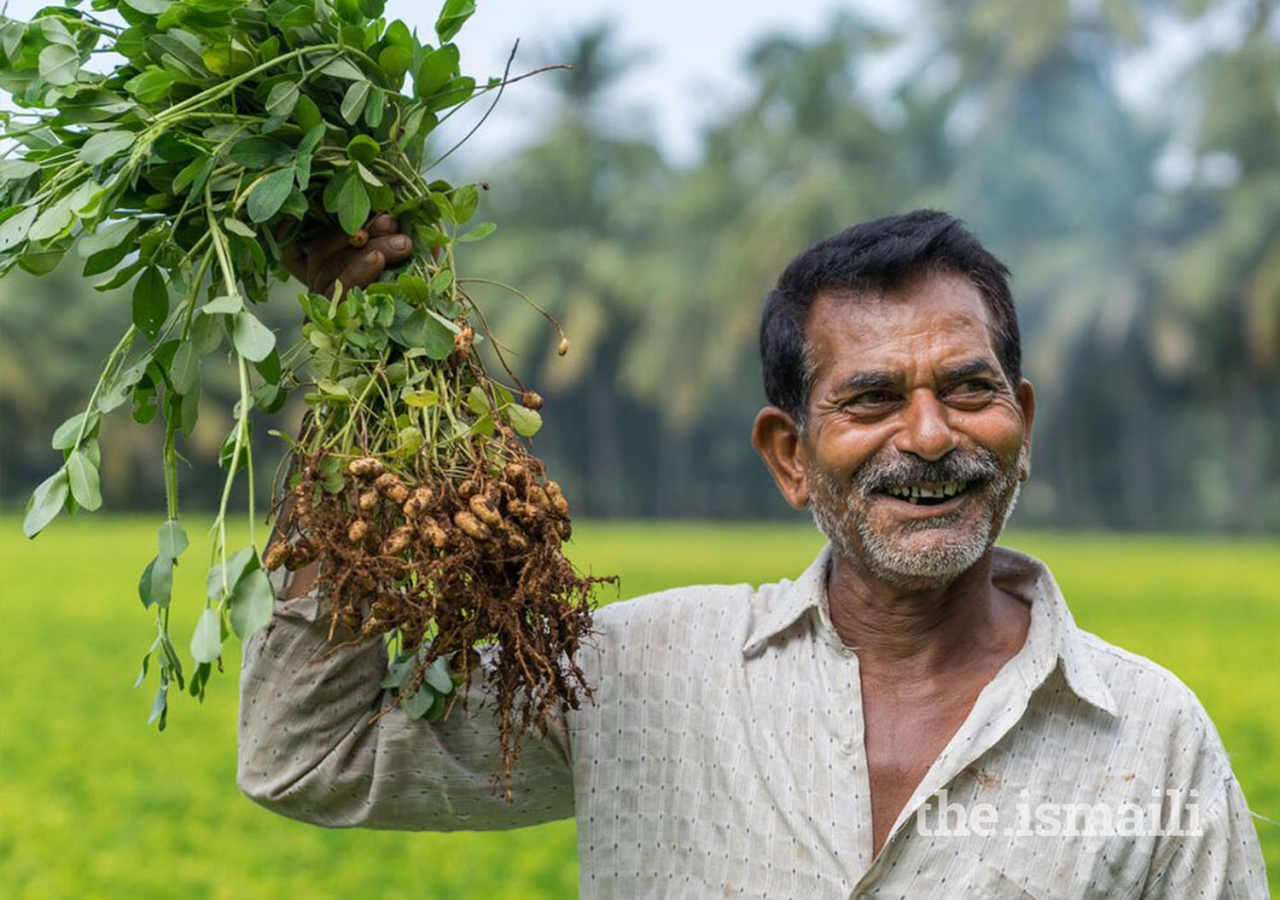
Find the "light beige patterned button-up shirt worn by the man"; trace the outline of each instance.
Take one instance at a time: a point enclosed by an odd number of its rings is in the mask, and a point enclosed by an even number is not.
[[[1005,549],[993,577],[1030,604],[1027,643],[873,858],[858,655],[831,627],[828,559],[794,583],[599,609],[580,655],[595,703],[529,737],[513,805],[493,792],[480,691],[434,725],[375,716],[380,643],[333,650],[314,593],[282,603],[244,648],[239,783],[325,826],[576,816],[582,897],[1267,896],[1194,694],[1080,631],[1048,570]]]

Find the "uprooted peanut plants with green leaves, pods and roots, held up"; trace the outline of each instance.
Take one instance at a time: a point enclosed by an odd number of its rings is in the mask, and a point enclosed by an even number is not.
[[[204,695],[230,632],[266,623],[266,571],[317,561],[332,636],[388,635],[398,654],[387,686],[412,716],[444,714],[471,679],[471,648],[495,644],[489,679],[509,775],[521,734],[589,694],[573,653],[599,579],[561,553],[568,504],[522,442],[541,401],[509,370],[509,384],[492,378],[475,352],[484,319],[466,287],[484,279],[458,275],[454,245],[494,229],[468,225],[477,186],[422,174],[436,125],[500,93],[506,77],[477,86],[461,74],[451,41],[474,0],[444,4],[435,45],[384,19],[383,5],[72,0],[31,22],[0,18],[0,87],[22,110],[4,115],[0,271],[47,273],[74,246],[100,289],[133,284],[132,325],[84,411],[54,434],[65,462],[33,493],[23,527],[35,536],[64,510],[101,506],[105,414],[132,405],[138,422],[159,417],[168,517],[138,584],[157,623],[140,675],[159,671],[152,721],[164,727],[172,686]],[[87,69],[102,51],[119,64]],[[278,347],[255,307],[287,277],[288,255],[335,227],[361,246],[378,214],[398,219],[412,259],[393,280],[302,293],[305,339]],[[184,673],[169,632],[188,545],[177,461],[201,367],[219,351],[239,401]],[[287,438],[292,539],[260,557],[252,412],[279,410],[294,389],[308,411]],[[233,552],[227,512],[242,475],[251,543]]]

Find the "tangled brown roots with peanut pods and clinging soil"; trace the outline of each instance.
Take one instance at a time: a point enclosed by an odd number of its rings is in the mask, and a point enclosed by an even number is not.
[[[495,444],[502,462],[493,462]],[[401,702],[438,659],[470,687],[475,648],[493,645],[481,677],[511,800],[524,735],[545,732],[557,707],[577,709],[591,698],[575,657],[590,634],[593,589],[617,579],[579,575],[564,558],[568,503],[518,439],[499,434],[474,449],[481,462],[461,478],[398,471],[374,456],[343,458],[337,492],[326,485],[332,454],[297,458],[280,531],[301,536],[273,544],[264,565],[297,570],[319,561],[330,640],[342,626],[355,640],[393,636],[402,653],[416,653]],[[451,693],[444,714],[458,696],[466,690]]]

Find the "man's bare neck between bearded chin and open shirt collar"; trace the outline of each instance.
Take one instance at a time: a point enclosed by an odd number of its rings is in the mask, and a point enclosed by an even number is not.
[[[993,549],[945,585],[905,589],[833,552],[827,574],[831,622],[863,670],[932,677],[991,654],[1016,653],[1029,611],[992,584]]]

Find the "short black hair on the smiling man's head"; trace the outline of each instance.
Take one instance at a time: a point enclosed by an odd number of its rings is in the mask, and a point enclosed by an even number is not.
[[[804,429],[813,388],[805,324],[818,294],[879,294],[943,273],[963,275],[978,288],[991,310],[1000,366],[1016,387],[1023,380],[1023,350],[1009,269],[955,216],[915,210],[846,228],[787,264],[760,317],[760,362],[769,403]]]

